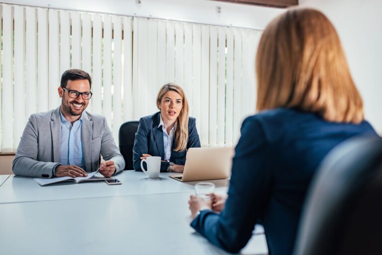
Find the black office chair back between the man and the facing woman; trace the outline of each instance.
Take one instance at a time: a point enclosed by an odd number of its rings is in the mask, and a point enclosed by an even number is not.
[[[139,121],[126,121],[119,128],[119,151],[125,160],[124,170],[133,170],[133,146]]]

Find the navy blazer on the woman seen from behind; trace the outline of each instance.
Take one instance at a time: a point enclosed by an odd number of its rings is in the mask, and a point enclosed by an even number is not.
[[[333,123],[294,109],[247,118],[235,148],[224,210],[221,214],[203,210],[191,226],[216,246],[238,252],[260,222],[269,254],[291,255],[315,170],[336,145],[359,135],[377,136],[367,121]]]

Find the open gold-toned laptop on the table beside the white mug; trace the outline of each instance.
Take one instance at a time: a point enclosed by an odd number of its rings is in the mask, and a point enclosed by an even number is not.
[[[233,147],[190,148],[183,175],[170,175],[180,181],[226,179],[231,173]]]

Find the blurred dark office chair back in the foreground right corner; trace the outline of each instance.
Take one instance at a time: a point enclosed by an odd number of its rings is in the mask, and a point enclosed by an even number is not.
[[[382,254],[382,139],[351,139],[323,161],[294,255]]]

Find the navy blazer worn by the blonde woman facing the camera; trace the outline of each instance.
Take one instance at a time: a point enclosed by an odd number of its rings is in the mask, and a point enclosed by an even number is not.
[[[135,134],[133,147],[133,167],[135,170],[141,170],[142,154],[150,154],[151,156],[160,156],[164,160],[165,148],[163,142],[163,130],[158,125],[161,122],[161,112],[153,115],[142,117],[139,120],[138,131]],[[196,131],[195,118],[189,118],[189,140],[187,142],[187,150],[176,152],[177,144],[174,139],[170,162],[177,165],[186,164],[186,153],[189,148],[200,147],[199,135]],[[161,171],[167,171],[168,162],[161,163]]]

